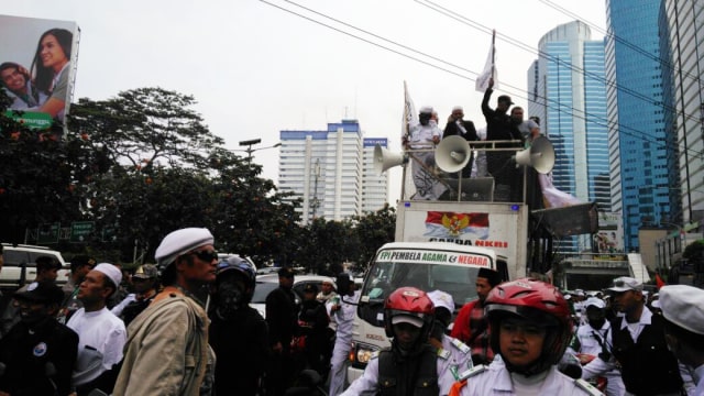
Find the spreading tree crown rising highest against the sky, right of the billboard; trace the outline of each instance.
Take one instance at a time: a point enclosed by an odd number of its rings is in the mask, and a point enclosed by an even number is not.
[[[139,88],[116,98],[81,98],[72,106],[69,127],[109,147],[114,162],[143,173],[153,166],[208,167],[208,153],[224,141],[193,110],[196,100],[163,88]]]

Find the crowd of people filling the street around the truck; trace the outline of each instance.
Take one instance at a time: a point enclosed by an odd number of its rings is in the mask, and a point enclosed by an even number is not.
[[[704,395],[704,290],[692,286],[649,295],[619,277],[565,292],[483,270],[463,307],[400,287],[384,306],[392,345],[348,384],[352,277],[297,296],[283,267],[264,318],[250,307],[256,268],[213,244],[207,229],[176,230],[155,265],[132,271],[77,256],[63,288],[56,263],[37,258],[2,312],[0,396],[305,395],[311,384],[336,396]]]

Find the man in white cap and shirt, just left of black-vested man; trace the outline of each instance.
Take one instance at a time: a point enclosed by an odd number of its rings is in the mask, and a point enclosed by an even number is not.
[[[610,329],[610,323],[606,320],[606,302],[597,297],[590,297],[584,301],[584,307],[586,323],[576,330],[568,352],[574,353],[583,365],[596,356],[607,361],[609,352],[606,345],[606,334]],[[624,395],[626,387],[618,370],[614,369],[604,376],[606,377],[606,395]]]

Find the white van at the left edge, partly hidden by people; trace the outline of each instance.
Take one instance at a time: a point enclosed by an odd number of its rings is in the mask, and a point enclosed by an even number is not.
[[[4,264],[0,270],[0,288],[18,289],[36,277],[36,258],[50,256],[61,263],[56,283],[63,285],[70,274],[69,265],[64,261],[62,253],[45,246],[9,243],[2,244],[2,257]]]

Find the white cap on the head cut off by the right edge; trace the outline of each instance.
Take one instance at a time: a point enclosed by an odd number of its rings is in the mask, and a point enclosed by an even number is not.
[[[704,290],[688,285],[662,286],[659,301],[666,319],[704,336]]]

